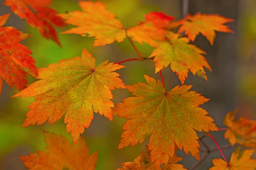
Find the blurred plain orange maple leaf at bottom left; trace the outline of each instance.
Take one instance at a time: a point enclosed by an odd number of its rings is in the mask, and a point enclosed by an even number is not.
[[[62,135],[46,131],[43,133],[48,145],[46,151],[38,150],[38,153],[20,156],[29,170],[63,170],[65,167],[69,170],[95,170],[98,151],[89,156],[89,148],[84,139],[79,139],[72,146]]]

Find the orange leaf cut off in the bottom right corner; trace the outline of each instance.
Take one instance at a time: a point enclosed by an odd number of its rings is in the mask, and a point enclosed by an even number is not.
[[[239,150],[240,147],[232,153],[230,163],[220,158],[213,159],[214,167],[211,167],[209,170],[255,170],[256,159],[251,159],[255,150],[247,149],[241,152]]]

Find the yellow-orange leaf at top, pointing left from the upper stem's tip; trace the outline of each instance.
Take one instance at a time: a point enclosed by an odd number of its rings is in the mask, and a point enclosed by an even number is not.
[[[122,23],[116,20],[115,14],[106,10],[100,2],[79,1],[83,11],[72,11],[59,14],[66,23],[77,26],[64,34],[80,34],[84,37],[95,37],[93,46],[111,44],[115,40],[122,42],[126,38]]]

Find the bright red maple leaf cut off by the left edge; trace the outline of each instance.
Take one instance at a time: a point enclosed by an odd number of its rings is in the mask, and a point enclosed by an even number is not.
[[[10,14],[0,16],[0,94],[2,92],[2,79],[12,88],[18,90],[26,88],[26,69],[37,75],[35,60],[30,56],[32,52],[25,45],[20,44],[21,40],[29,37],[17,31],[14,27],[3,27]]]

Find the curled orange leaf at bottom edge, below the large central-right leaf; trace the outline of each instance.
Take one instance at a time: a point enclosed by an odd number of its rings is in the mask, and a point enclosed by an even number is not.
[[[167,164],[163,164],[160,170],[186,170],[182,164],[176,164],[181,161],[183,158],[173,156],[169,158]],[[122,168],[118,170],[156,170],[154,162],[150,160],[150,150],[146,145],[146,152],[142,152],[133,162],[122,163]]]

